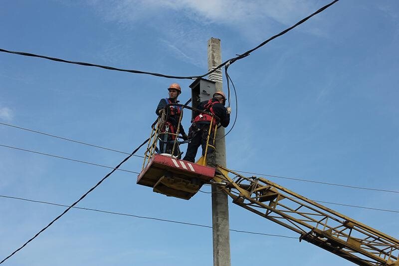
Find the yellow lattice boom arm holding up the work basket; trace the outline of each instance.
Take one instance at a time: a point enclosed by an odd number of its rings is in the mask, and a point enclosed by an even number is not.
[[[399,266],[399,240],[267,179],[227,168],[214,181],[233,203],[282,225],[307,241],[362,266]],[[234,178],[230,178],[234,175]]]

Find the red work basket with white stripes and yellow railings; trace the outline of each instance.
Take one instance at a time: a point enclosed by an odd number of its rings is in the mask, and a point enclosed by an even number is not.
[[[150,140],[144,154],[143,169],[137,178],[137,184],[151,187],[154,192],[166,196],[189,200],[200,190],[203,184],[209,183],[215,175],[215,169],[206,166],[206,152],[208,147],[214,149],[214,145],[209,144],[209,139],[211,134],[215,134],[216,127],[213,131],[209,127],[205,156],[202,156],[197,163],[180,160],[181,153],[178,139],[183,111],[181,112],[177,131],[169,132],[168,127],[165,127],[169,105],[165,108],[166,111],[162,113],[162,116],[152,125]],[[181,104],[174,105],[195,109]],[[210,115],[213,119],[213,115]],[[166,131],[165,128],[167,129]],[[167,138],[169,136],[171,137]],[[171,154],[162,153],[161,146],[165,146],[167,139],[169,140],[168,143],[173,143],[170,144],[170,147],[173,146],[170,151]],[[170,141],[170,139],[173,141]],[[214,144],[212,140],[211,142]],[[161,144],[160,148],[157,147],[157,143]]]

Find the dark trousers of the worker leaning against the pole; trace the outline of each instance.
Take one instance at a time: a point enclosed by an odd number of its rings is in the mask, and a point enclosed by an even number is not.
[[[187,147],[186,156],[183,158],[185,161],[195,162],[198,148],[202,147],[202,155],[205,154],[206,139],[209,132],[209,123],[193,123],[189,129],[189,138],[191,142]],[[213,146],[214,131],[210,132],[209,144]],[[208,146],[206,161],[209,165],[214,165],[214,149]]]

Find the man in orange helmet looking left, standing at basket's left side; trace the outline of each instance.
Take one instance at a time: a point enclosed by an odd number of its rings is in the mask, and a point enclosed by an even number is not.
[[[164,127],[161,129],[161,132],[169,132],[169,133],[176,134],[179,120],[181,121],[180,116],[182,115],[183,107],[178,106],[178,105],[169,105],[169,104],[179,103],[178,97],[179,97],[180,93],[182,93],[182,89],[180,88],[180,85],[178,83],[172,83],[168,87],[168,90],[169,90],[169,97],[161,99],[159,101],[159,104],[158,104],[157,109],[155,110],[155,113],[158,116],[161,116],[163,112],[166,112],[166,122],[165,122]],[[169,105],[169,106],[166,107],[167,105]],[[180,124],[179,132],[180,132],[180,134],[182,134],[182,138],[184,140],[189,139],[186,132],[184,131],[182,124]],[[172,150],[173,150],[173,146],[174,146],[173,141],[176,139],[176,136],[167,134],[167,137],[165,138],[165,135],[161,134],[160,138],[161,138],[160,152],[172,154]],[[173,155],[177,156],[177,157],[180,155],[179,145],[175,146],[175,151],[174,151]]]

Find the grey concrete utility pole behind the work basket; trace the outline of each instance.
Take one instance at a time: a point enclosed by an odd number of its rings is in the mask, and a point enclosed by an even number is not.
[[[208,40],[208,71],[221,64],[220,39]],[[211,73],[209,80],[216,82],[216,91],[222,89],[221,69]],[[216,132],[216,139],[224,136],[224,128]],[[216,141],[216,164],[226,166],[226,145],[224,138]],[[230,266],[230,231],[228,224],[227,194],[212,185],[212,227],[213,227],[213,266]]]

